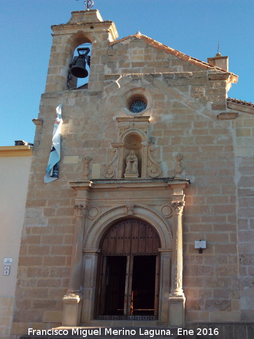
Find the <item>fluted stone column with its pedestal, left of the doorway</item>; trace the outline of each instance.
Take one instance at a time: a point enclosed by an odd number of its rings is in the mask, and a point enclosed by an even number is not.
[[[73,236],[73,249],[69,289],[63,297],[62,326],[77,326],[80,321],[82,295],[82,262],[83,262],[83,239],[87,205],[80,204],[75,207],[76,224]]]

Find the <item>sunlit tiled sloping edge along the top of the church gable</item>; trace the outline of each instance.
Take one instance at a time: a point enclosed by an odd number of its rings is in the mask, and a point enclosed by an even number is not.
[[[157,42],[156,40],[153,40],[153,39],[151,39],[151,38],[149,38],[149,37],[147,37],[147,36],[145,36],[143,34],[130,35],[128,37],[112,41],[112,42],[109,43],[109,45],[112,46],[112,45],[115,45],[115,44],[117,44],[119,42],[122,42],[122,41],[128,40],[128,39],[132,39],[132,38],[141,39],[144,42],[146,42],[147,44],[150,44],[150,45],[152,45],[155,48],[161,49],[161,50],[165,51],[168,54],[173,54],[173,55],[179,57],[180,59],[182,59],[184,61],[187,61],[190,64],[193,64],[195,66],[199,66],[200,68],[211,69],[211,70],[218,70],[218,71],[221,71],[221,72],[229,73],[232,76],[232,82],[234,82],[234,83],[237,82],[238,76],[235,75],[234,73],[228,72],[228,71],[226,71],[226,70],[224,70],[222,68],[210,65],[208,63],[205,63],[205,61],[196,59],[196,58],[194,58],[192,56],[189,56],[189,55],[184,54],[184,53],[182,53],[180,51],[177,51],[176,49],[173,49],[173,48],[171,48],[169,46],[163,45],[162,43]]]

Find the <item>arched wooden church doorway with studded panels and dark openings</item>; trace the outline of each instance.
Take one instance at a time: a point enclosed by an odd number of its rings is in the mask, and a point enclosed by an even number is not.
[[[100,242],[97,319],[157,319],[160,240],[139,219],[111,226]]]

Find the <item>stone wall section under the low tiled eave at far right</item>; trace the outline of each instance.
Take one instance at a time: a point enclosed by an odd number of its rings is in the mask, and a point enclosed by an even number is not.
[[[252,321],[254,316],[253,202],[254,202],[254,119],[240,113],[235,120],[235,155],[237,183],[238,261],[240,319]]]

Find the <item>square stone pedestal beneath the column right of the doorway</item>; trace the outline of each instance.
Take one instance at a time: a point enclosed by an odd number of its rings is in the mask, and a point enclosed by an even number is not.
[[[185,321],[185,297],[169,296],[169,326],[184,326]]]

